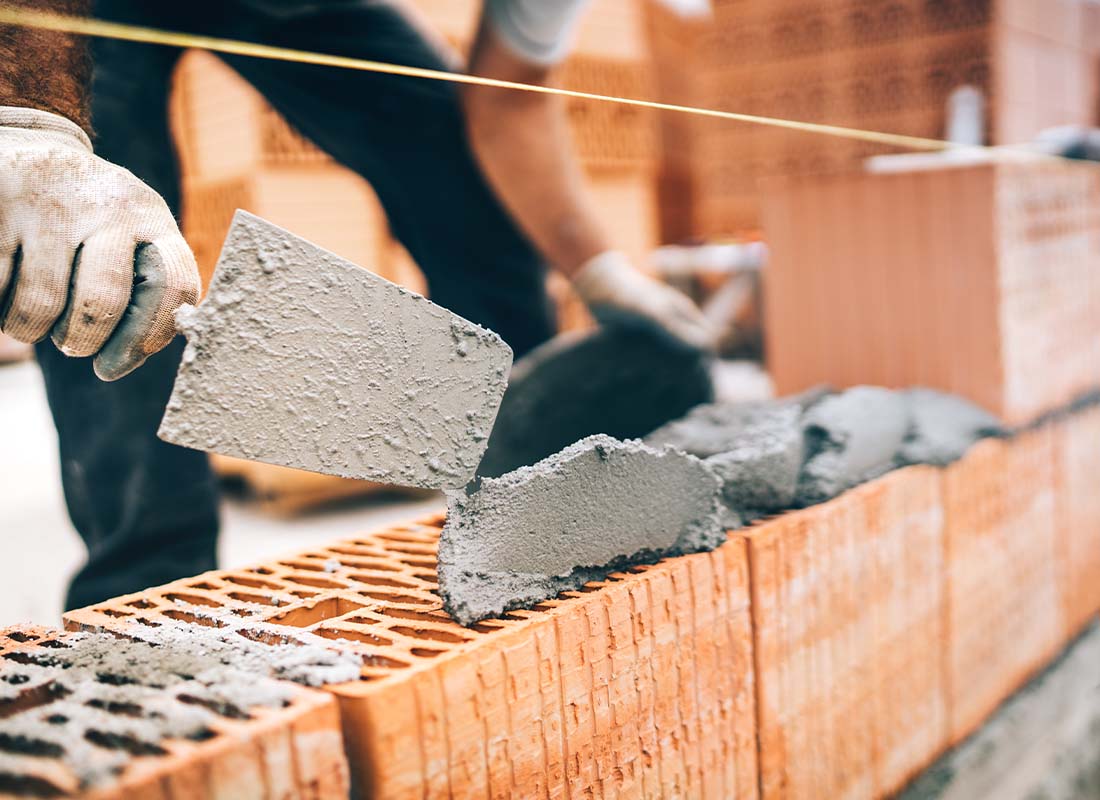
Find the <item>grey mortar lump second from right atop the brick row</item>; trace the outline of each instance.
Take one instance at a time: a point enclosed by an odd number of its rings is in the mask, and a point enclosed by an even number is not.
[[[818,401],[802,419],[805,462],[796,504],[823,503],[890,471],[909,431],[900,393],[856,386]]]

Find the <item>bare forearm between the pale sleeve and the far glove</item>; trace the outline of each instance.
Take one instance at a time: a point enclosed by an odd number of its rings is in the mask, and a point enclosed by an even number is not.
[[[540,67],[525,66],[485,42],[472,62],[483,76],[542,83]],[[512,89],[468,87],[470,140],[497,195],[547,261],[572,276],[610,249],[587,197],[572,152],[560,98]]]

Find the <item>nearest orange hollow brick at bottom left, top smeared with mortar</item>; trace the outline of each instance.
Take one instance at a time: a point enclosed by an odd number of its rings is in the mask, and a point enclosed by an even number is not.
[[[76,719],[63,709],[67,691],[59,691],[48,675],[40,676],[73,646],[73,638],[36,626],[0,631],[0,683],[13,690],[0,698],[0,725],[10,720],[51,731],[48,739],[0,736],[0,798],[338,800],[348,796],[340,720],[328,694],[285,683],[288,699],[282,708],[239,709],[196,700],[186,688],[170,693],[144,686],[134,676],[99,673],[77,687],[86,708],[79,712],[82,719]],[[138,699],[121,702],[119,687]],[[196,705],[212,712],[200,735],[146,738],[143,717],[187,714]],[[82,752],[85,772],[100,779],[114,775],[101,785],[85,786],[85,776],[65,761],[66,750],[75,748]],[[121,765],[120,753],[131,756]]]

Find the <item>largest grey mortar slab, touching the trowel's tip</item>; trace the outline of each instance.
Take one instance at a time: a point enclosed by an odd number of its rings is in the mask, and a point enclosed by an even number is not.
[[[725,540],[718,479],[698,459],[608,436],[450,495],[439,544],[447,611],[470,625],[615,569]]]

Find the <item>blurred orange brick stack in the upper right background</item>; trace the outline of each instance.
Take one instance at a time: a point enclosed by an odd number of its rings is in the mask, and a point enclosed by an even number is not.
[[[988,101],[989,143],[1014,144],[1097,122],[1090,11],[1088,0],[716,0],[706,32],[681,25],[691,48],[674,46],[674,24],[651,31],[657,70],[686,70],[695,85],[680,97],[662,80],[669,102],[942,139],[948,97],[970,85]],[[759,228],[761,178],[844,173],[887,152],[897,151],[695,118],[662,157],[690,186],[689,232],[716,238]],[[662,195],[662,216],[683,202]]]

